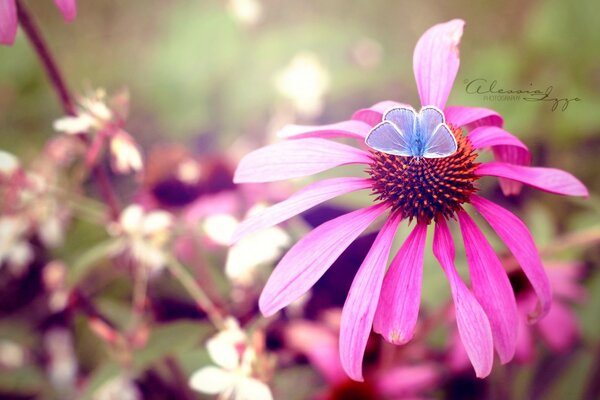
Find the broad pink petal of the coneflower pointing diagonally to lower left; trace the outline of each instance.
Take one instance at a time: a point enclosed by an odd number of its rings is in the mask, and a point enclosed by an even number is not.
[[[260,295],[262,313],[273,315],[306,293],[385,209],[385,204],[376,204],[342,215],[296,243],[277,264]]]

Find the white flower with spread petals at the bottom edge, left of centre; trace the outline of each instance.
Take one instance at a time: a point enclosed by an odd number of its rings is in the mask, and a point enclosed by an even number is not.
[[[256,352],[237,321],[229,319],[226,328],[206,343],[208,354],[217,366],[196,371],[190,387],[228,400],[272,400],[269,387],[252,377]]]

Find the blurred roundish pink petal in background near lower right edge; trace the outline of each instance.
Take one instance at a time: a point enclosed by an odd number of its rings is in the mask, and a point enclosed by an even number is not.
[[[538,322],[540,334],[557,352],[568,350],[579,339],[579,325],[572,310],[554,302],[546,318]]]

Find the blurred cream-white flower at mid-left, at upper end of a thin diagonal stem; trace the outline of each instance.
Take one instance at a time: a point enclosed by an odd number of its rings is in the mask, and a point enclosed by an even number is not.
[[[166,211],[146,213],[142,206],[133,204],[119,217],[119,231],[125,250],[151,271],[159,271],[166,262],[165,246],[171,236],[173,217]]]

